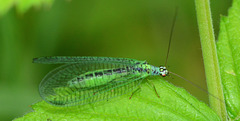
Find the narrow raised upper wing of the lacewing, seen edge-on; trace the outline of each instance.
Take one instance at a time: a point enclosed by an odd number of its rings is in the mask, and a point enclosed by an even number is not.
[[[79,63],[82,61],[100,61],[100,62],[109,62],[109,63],[141,63],[144,61],[138,61],[135,59],[129,58],[112,58],[112,57],[80,57],[80,56],[49,56],[49,57],[39,57],[34,58],[33,63],[42,63],[42,64],[69,64],[69,63]]]

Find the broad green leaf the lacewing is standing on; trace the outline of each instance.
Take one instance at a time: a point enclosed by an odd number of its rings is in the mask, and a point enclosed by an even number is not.
[[[34,112],[16,120],[220,120],[212,109],[184,89],[159,77],[150,77],[149,82],[144,81],[131,100],[132,93],[74,107],[55,107],[42,101],[32,105]]]

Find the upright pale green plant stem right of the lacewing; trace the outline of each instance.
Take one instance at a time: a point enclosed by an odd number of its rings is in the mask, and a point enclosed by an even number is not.
[[[220,78],[210,2],[209,0],[195,0],[195,6],[208,91],[219,98],[216,99],[209,95],[210,106],[224,121],[227,120],[227,113]]]

